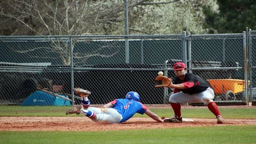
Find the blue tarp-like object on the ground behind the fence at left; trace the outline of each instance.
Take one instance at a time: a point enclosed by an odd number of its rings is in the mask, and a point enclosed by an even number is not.
[[[68,98],[67,95],[59,94],[62,97]],[[35,91],[21,104],[22,106],[71,106],[70,101],[54,97],[51,94]]]

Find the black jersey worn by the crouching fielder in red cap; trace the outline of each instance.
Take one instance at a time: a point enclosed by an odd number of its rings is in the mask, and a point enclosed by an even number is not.
[[[187,89],[178,89],[183,93],[195,94],[205,91],[209,87],[209,85],[202,78],[192,73],[186,74],[184,81],[181,81],[181,79],[178,77],[174,80],[174,84],[181,84],[184,82],[193,82],[194,86]]]

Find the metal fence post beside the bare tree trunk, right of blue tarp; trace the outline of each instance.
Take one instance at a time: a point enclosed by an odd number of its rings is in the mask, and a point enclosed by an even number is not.
[[[72,105],[74,105],[74,65],[73,65],[73,43],[72,43],[72,37],[69,37],[69,48],[70,48],[70,78],[71,78],[71,95],[72,95]]]

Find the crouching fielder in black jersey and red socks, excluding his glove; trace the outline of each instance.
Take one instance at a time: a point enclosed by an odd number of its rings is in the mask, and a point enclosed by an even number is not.
[[[176,79],[168,87],[174,88],[174,94],[170,95],[169,102],[174,110],[174,116],[164,119],[164,122],[182,123],[180,103],[198,103],[204,105],[216,116],[218,124],[224,124],[217,104],[214,99],[214,90],[199,76],[186,73],[186,65],[182,62],[174,64],[174,73]]]

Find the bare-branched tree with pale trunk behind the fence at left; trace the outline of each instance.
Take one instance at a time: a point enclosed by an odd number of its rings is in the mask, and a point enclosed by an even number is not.
[[[111,6],[110,3],[100,1],[7,0],[1,2],[0,14],[6,18],[7,23],[12,22],[15,25],[11,27],[14,29],[11,35],[84,35],[100,32],[98,25],[109,25],[111,21],[117,20],[117,15],[123,11],[123,7],[121,5]],[[31,57],[39,57],[37,56],[38,53],[32,52],[44,49],[46,54],[57,53],[62,63],[69,65],[69,44],[55,38],[49,38],[49,41],[51,47],[30,47],[30,50],[22,51],[15,49],[15,47],[11,47],[11,49],[18,53],[30,53]],[[92,52],[79,57],[86,60],[84,57],[95,54],[101,55]],[[40,54],[40,57],[43,56]]]

